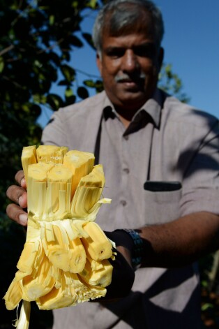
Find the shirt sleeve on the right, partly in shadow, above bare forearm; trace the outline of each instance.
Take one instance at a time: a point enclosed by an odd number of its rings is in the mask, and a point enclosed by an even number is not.
[[[183,177],[181,216],[219,214],[219,124],[216,120],[194,152]]]

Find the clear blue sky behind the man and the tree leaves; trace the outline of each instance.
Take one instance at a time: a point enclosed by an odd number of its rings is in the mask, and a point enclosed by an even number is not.
[[[165,22],[165,63],[183,82],[190,104],[219,117],[219,0],[156,0]],[[82,30],[91,32],[94,13],[86,13]],[[80,34],[79,34],[80,36]],[[100,76],[96,54],[86,45],[72,54],[72,65],[79,71]],[[79,83],[88,76],[78,73]],[[54,89],[63,93],[63,89]],[[90,94],[93,94],[92,90]],[[50,112],[42,115],[44,124]]]

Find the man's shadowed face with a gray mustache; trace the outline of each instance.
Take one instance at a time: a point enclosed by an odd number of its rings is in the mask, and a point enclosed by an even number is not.
[[[102,57],[97,64],[107,96],[116,108],[138,110],[156,88],[163,60],[153,38],[146,33],[103,36]]]

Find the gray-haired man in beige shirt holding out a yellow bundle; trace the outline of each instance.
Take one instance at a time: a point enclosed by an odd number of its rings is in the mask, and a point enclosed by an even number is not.
[[[95,152],[103,163],[112,205],[97,222],[136,266],[127,297],[58,309],[55,329],[200,326],[195,261],[219,247],[218,120],[157,89],[163,31],[151,1],[105,5],[93,30],[105,92],[60,109],[43,131],[43,143]],[[20,187],[7,195],[27,206]],[[9,205],[8,217],[25,224],[20,207]]]

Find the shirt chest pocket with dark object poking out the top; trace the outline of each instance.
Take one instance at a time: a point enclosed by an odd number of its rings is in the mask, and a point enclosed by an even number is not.
[[[146,225],[163,224],[179,218],[180,182],[145,182],[144,193]]]

